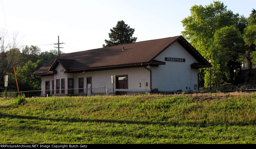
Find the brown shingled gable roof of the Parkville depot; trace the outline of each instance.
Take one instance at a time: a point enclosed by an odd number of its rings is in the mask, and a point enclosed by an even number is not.
[[[89,69],[93,71],[94,68],[95,70],[116,69],[114,67],[124,67],[129,64],[130,67],[131,64],[137,65],[137,67],[147,66],[148,64],[154,64],[154,58],[176,41],[178,41],[199,63],[210,65],[185,38],[175,36],[62,54],[31,75],[47,75],[48,71],[52,71],[57,67],[54,63],[60,63],[64,68],[62,70],[63,72],[81,72]],[[161,62],[156,63],[157,65],[161,65],[159,64]],[[107,68],[111,66],[113,66],[113,68]]]

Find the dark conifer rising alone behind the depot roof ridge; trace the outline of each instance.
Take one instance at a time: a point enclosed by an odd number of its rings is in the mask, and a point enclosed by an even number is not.
[[[125,22],[118,21],[116,26],[113,29],[110,29],[111,33],[109,33],[110,40],[105,39],[105,44],[103,47],[115,46],[115,45],[122,45],[136,42],[137,37],[132,37],[134,33],[134,28],[130,28]]]

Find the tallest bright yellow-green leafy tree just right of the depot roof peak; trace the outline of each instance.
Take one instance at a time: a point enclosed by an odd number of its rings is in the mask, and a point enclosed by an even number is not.
[[[218,71],[221,68],[221,64],[214,62],[214,55],[212,55],[212,45],[214,43],[214,34],[217,30],[226,27],[236,25],[240,20],[239,14],[233,14],[231,10],[227,10],[220,1],[214,1],[210,5],[194,5],[190,9],[191,16],[188,16],[182,20],[185,30],[182,31],[182,35],[193,45],[206,59],[212,59],[212,65],[214,69],[215,84],[219,87],[219,82],[222,76],[222,71]],[[244,17],[241,17],[242,19]],[[241,23],[244,20],[241,19]],[[243,26],[240,24],[239,26]],[[241,27],[242,28],[242,27]],[[208,80],[208,76],[205,75],[205,80]]]

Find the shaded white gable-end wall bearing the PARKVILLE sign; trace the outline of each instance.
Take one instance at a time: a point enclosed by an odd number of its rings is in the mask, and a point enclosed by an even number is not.
[[[183,58],[185,62],[165,61],[165,57]],[[164,61],[166,65],[151,67],[152,89],[158,88],[159,91],[198,90],[198,87],[194,89],[194,84],[198,85],[198,69],[191,69],[190,67],[192,63],[198,63],[198,61],[178,42],[175,42],[154,60]]]

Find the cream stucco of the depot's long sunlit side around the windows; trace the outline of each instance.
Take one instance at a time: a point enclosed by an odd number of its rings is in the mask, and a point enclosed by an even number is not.
[[[42,77],[42,90],[45,90],[45,81],[50,80],[50,89],[52,89],[52,80],[54,80],[54,89],[56,89],[56,79],[65,78],[65,89],[68,89],[68,78],[74,79],[74,88],[78,88],[78,78],[84,79],[84,88],[87,87],[87,77],[92,77],[92,87],[104,87],[113,88],[111,83],[111,76],[128,75],[128,89],[145,89],[145,85],[141,88],[138,86],[139,82],[144,84],[141,79],[146,79],[148,81],[147,89],[150,90],[150,71],[145,68],[126,68],[126,69],[115,69],[115,70],[103,70],[103,71],[92,71],[86,73],[64,73],[60,72],[63,69],[60,65],[57,66],[57,74],[54,76]],[[60,83],[61,88],[61,83]],[[116,83],[114,83],[114,88],[116,88]],[[95,92],[104,92],[104,89],[93,89]],[[86,91],[84,91],[86,92]],[[52,93],[52,92],[51,92]],[[45,92],[44,92],[45,94]],[[43,95],[44,95],[43,94]],[[65,91],[67,94],[67,90]]]

